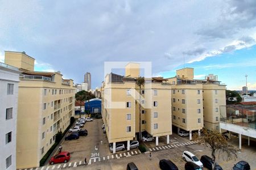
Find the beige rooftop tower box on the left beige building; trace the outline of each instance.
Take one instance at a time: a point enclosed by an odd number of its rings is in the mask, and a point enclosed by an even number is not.
[[[5,52],[5,63],[11,66],[34,71],[35,59],[25,53]]]

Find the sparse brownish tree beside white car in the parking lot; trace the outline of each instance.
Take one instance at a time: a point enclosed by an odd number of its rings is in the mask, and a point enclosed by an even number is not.
[[[232,145],[228,145],[224,135],[217,131],[203,129],[201,135],[198,133],[193,134],[193,140],[198,141],[201,145],[210,147],[212,150],[212,167],[215,164],[216,152],[218,152],[218,158],[220,158],[221,153],[226,154],[226,161],[237,158],[236,149]],[[225,159],[224,156],[222,156],[222,159]]]

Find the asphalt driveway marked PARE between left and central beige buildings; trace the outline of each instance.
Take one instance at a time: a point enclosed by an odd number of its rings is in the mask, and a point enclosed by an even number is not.
[[[79,139],[62,143],[63,151],[71,153],[69,162],[84,161],[85,158],[88,162],[89,159],[97,159],[100,156],[111,154],[108,139],[101,129],[102,123],[102,119],[86,122],[84,128],[81,129],[88,131],[87,136],[80,136]]]

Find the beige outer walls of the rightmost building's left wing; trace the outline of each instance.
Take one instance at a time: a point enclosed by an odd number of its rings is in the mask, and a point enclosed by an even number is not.
[[[182,94],[182,90],[184,90],[184,94]],[[197,94],[198,90],[200,91],[200,94]],[[185,100],[185,104],[182,103],[182,99]],[[200,104],[197,103],[197,99],[200,100]],[[182,113],[182,109],[185,109],[185,113]],[[198,113],[197,109],[200,109],[200,113]],[[185,118],[185,123],[183,122],[183,118]],[[199,118],[200,123],[198,123]],[[203,122],[202,84],[172,86],[172,124],[178,128],[189,131],[202,129]]]

